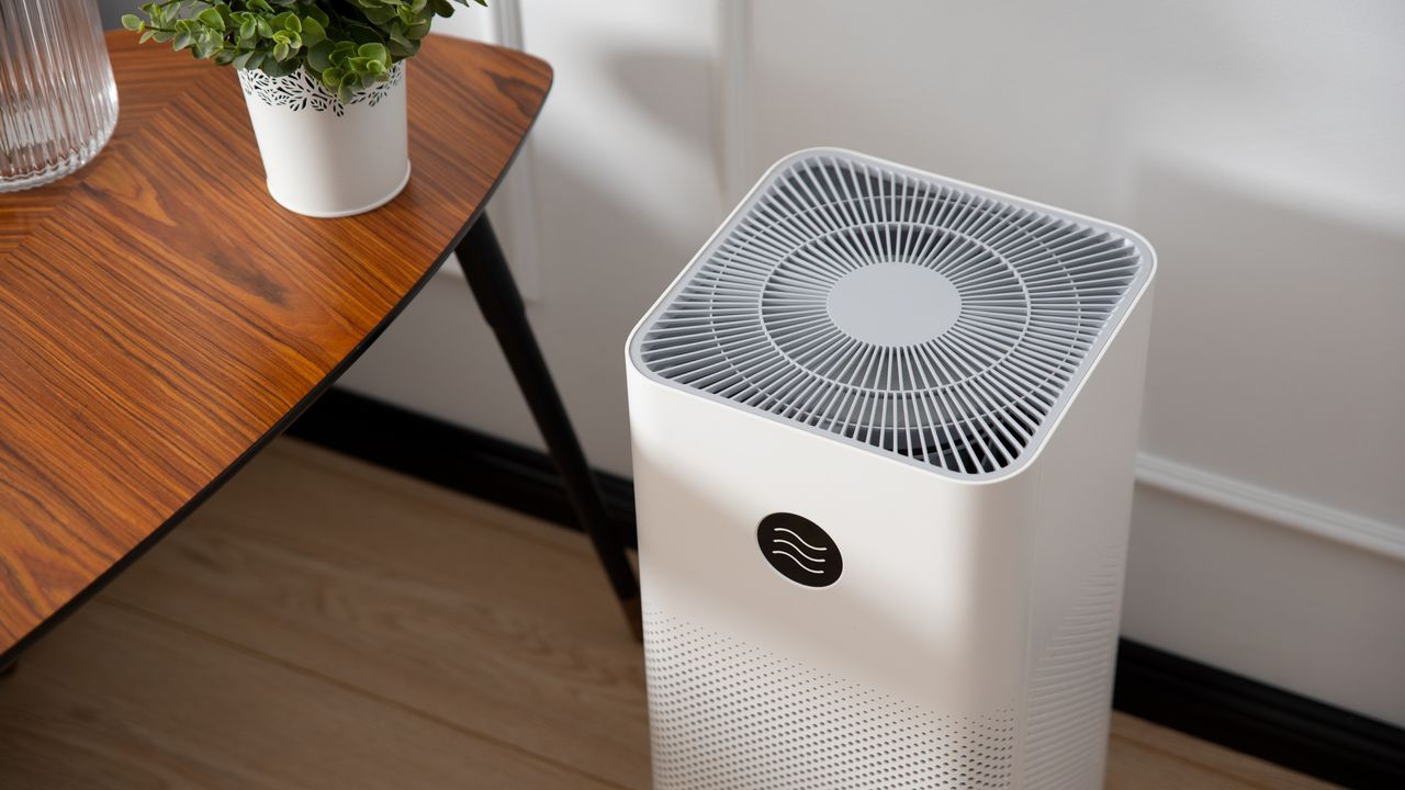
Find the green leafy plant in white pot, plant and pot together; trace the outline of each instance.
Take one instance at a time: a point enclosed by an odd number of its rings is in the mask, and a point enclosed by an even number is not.
[[[233,66],[268,194],[298,214],[347,216],[409,181],[405,60],[452,13],[450,0],[166,0],[122,27]]]

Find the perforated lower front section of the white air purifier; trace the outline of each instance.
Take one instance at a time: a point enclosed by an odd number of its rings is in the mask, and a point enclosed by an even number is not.
[[[1014,717],[940,715],[645,611],[656,790],[996,790]]]

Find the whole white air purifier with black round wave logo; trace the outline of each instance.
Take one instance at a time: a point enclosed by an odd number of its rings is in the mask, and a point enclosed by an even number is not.
[[[844,150],[628,342],[659,790],[1099,787],[1155,257]]]

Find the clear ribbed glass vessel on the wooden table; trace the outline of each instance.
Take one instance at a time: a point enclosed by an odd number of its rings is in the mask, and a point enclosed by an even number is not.
[[[0,193],[77,170],[115,125],[97,3],[0,0]]]

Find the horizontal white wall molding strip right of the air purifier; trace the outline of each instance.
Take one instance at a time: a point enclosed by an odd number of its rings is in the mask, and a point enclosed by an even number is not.
[[[1137,457],[1137,482],[1405,561],[1405,526],[1401,524],[1367,519],[1148,453]]]

